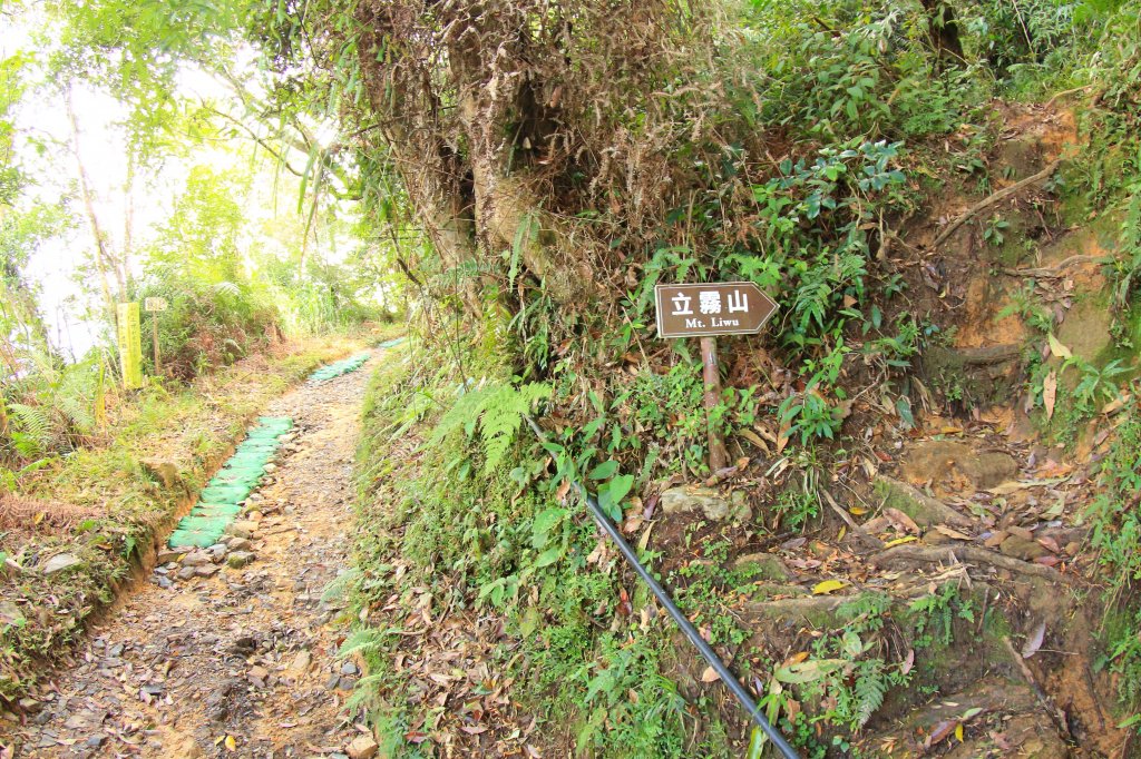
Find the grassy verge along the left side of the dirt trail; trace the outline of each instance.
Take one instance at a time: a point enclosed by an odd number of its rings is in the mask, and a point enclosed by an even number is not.
[[[0,490],[0,699],[27,693],[82,634],[269,399],[358,343],[323,337],[188,385],[108,394],[99,434]],[[44,574],[56,556],[78,560]]]

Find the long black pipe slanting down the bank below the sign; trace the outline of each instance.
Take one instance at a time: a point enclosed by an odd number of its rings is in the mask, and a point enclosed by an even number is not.
[[[547,442],[547,436],[539,427],[539,424],[536,424],[529,416],[526,417],[526,419],[527,424],[531,425],[531,429],[535,432],[539,440],[541,442]],[[614,525],[614,523],[610,522],[609,517],[607,517],[602,512],[602,507],[598,505],[598,500],[590,495],[590,491],[588,491],[577,480],[574,481],[574,485],[578,489],[583,500],[586,501],[586,506],[590,507],[591,513],[594,515],[594,521],[601,525],[606,534],[608,534],[610,540],[614,541],[614,545],[618,547],[618,552],[622,553],[622,557],[625,558],[626,563],[630,564],[634,572],[638,573],[638,577],[642,579],[642,582],[649,587],[654,597],[657,598],[658,603],[665,607],[665,611],[673,618],[673,621],[678,623],[681,631],[686,634],[689,642],[694,644],[695,648],[697,648],[697,653],[702,655],[702,659],[710,663],[710,667],[712,667],[713,671],[718,674],[721,682],[725,683],[726,687],[729,688],[733,695],[737,697],[741,705],[748,712],[750,718],[756,723],[756,726],[760,727],[766,735],[769,736],[769,740],[772,741],[772,744],[780,751],[785,759],[800,759],[796,750],[788,745],[788,742],[785,740],[784,735],[780,734],[780,731],[772,727],[772,725],[769,724],[769,720],[764,718],[764,715],[761,713],[760,707],[758,707],[756,702],[753,701],[753,696],[745,689],[745,686],[737,680],[737,676],[734,675],[728,667],[726,667],[725,662],[717,655],[713,647],[705,642],[705,638],[703,638],[702,634],[697,631],[697,628],[694,627],[693,622],[690,622],[689,619],[681,613],[681,610],[673,603],[673,598],[670,597],[670,594],[665,590],[665,588],[663,588],[662,585],[654,579],[654,576],[650,574],[645,566],[642,566],[642,563],[638,561],[638,555],[634,553],[633,548],[630,547],[630,544],[626,542],[626,539],[622,537],[622,533],[618,532],[618,529]]]

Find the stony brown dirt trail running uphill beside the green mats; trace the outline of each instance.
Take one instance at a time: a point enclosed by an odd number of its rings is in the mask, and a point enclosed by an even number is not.
[[[16,756],[343,756],[362,734],[342,708],[357,671],[334,658],[341,612],[322,596],[348,561],[375,360],[265,409],[292,417],[297,434],[253,496],[257,560],[188,581],[160,569],[60,668],[55,700],[16,731]]]

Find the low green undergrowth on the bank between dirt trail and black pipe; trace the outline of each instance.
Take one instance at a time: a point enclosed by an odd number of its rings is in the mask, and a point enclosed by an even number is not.
[[[434,617],[503,617],[502,635],[476,643],[474,655],[492,666],[495,680],[513,682],[511,709],[542,720],[540,744],[607,756],[730,756],[720,721],[703,718],[695,731],[691,704],[663,675],[677,652],[661,620],[615,617],[630,606],[617,557],[564,499],[565,487],[560,496],[559,483],[542,475],[537,443],[516,436],[532,399],[504,402],[508,389],[499,403],[464,415],[469,426],[475,418],[488,423],[488,413],[511,418],[510,430],[487,430],[485,457],[478,435],[470,441],[450,425],[435,427],[463,383],[432,364],[422,352],[389,354],[370,385],[358,455],[363,529],[354,598],[366,626],[345,653],[367,662],[354,702],[367,708],[382,750],[410,757],[432,750],[422,753],[415,740],[428,729],[432,703],[394,661],[407,638],[373,617],[390,596],[408,603],[426,587]],[[493,386],[504,387],[483,390]],[[470,390],[459,399],[480,392]],[[436,444],[419,447],[434,430]],[[386,609],[393,613],[390,603]]]

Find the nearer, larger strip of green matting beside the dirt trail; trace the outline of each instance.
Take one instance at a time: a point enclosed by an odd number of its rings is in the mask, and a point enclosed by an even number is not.
[[[293,419],[289,417],[258,417],[257,426],[248,432],[245,440],[234,449],[234,455],[202,489],[197,505],[191,509],[189,516],[184,516],[178,523],[167,545],[171,548],[205,548],[221,540],[226,528],[242,513],[242,501],[250,497],[265,476],[266,464],[281,446],[278,438],[292,429]]]

